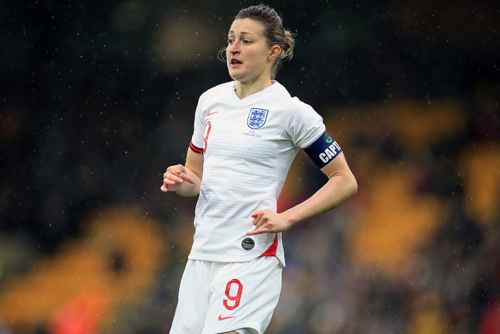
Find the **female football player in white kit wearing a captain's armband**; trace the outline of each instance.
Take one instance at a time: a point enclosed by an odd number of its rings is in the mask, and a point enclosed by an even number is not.
[[[163,174],[163,192],[199,194],[171,334],[263,333],[281,289],[281,232],[357,190],[322,118],[273,80],[293,45],[273,9],[241,10],[225,49],[234,81],[201,94],[186,163]],[[276,213],[299,148],[328,181],[309,199]]]

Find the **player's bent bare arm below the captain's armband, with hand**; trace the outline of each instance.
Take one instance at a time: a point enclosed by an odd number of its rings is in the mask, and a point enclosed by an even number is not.
[[[342,152],[321,168],[321,171],[328,176],[328,182],[314,195],[281,213],[270,209],[256,210],[251,215],[255,229],[246,234],[286,231],[294,225],[330,211],[356,193],[356,179]]]

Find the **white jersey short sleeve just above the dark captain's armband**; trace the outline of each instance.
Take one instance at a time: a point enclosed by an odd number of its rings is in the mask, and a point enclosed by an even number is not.
[[[323,118],[298,98],[293,98],[292,106],[293,110],[286,112],[281,125],[296,147],[306,148],[323,134]]]

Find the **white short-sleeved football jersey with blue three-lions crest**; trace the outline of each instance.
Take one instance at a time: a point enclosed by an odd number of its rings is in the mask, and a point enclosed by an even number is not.
[[[242,262],[274,255],[284,265],[281,233],[246,235],[258,209],[276,211],[299,148],[325,131],[323,119],[278,82],[239,99],[236,82],[198,101],[190,147],[204,154],[189,259]]]

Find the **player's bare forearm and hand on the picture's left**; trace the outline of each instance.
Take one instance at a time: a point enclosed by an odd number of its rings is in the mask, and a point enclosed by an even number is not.
[[[185,166],[178,164],[168,167],[160,189],[162,192],[175,191],[180,196],[197,196],[202,176],[203,155],[187,149]]]

